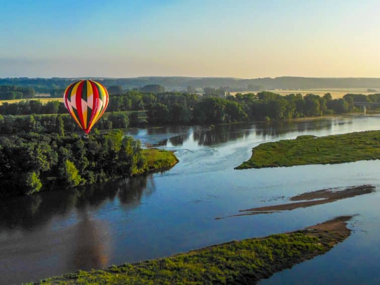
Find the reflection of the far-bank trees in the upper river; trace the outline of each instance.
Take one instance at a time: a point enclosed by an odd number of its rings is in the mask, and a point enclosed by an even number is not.
[[[185,142],[193,141],[199,146],[212,146],[238,139],[248,138],[254,134],[265,139],[275,138],[289,132],[310,132],[331,130],[334,127],[352,125],[352,118],[317,118],[305,120],[268,121],[255,123],[239,123],[209,126],[170,126],[147,128],[140,131],[128,131],[126,134],[141,139],[145,146],[183,146]],[[193,137],[191,137],[193,136]]]

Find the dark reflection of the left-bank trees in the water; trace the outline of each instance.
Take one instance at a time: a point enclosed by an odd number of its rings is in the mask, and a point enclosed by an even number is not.
[[[146,191],[145,191],[146,189]],[[22,228],[33,230],[54,216],[62,216],[72,209],[97,209],[115,198],[128,208],[140,204],[142,194],[155,190],[152,175],[141,175],[106,183],[86,185],[60,191],[11,197],[0,201],[0,231]]]

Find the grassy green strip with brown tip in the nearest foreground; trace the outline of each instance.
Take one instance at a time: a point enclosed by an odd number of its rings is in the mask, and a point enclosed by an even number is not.
[[[254,284],[331,250],[350,235],[346,225],[351,218],[341,216],[294,232],[232,241],[102,270],[78,271],[35,284]]]

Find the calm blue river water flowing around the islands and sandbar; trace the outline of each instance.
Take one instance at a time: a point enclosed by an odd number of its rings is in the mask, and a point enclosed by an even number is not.
[[[263,142],[380,129],[357,116],[164,127],[126,134],[175,150],[162,173],[0,201],[0,283],[169,256],[212,244],[297,230],[340,215],[352,235],[330,252],[262,284],[380,283],[380,161],[234,170]],[[282,204],[328,187],[373,184],[372,194],[273,214],[215,219]]]

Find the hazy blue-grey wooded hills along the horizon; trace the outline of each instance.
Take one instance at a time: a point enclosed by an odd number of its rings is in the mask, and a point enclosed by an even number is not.
[[[30,86],[36,91],[61,89],[70,82],[80,78],[0,78],[0,85]],[[194,88],[221,87],[247,88],[248,85],[260,86],[263,89],[312,89],[312,88],[380,88],[380,78],[317,78],[290,77],[275,78],[232,78],[232,77],[134,77],[134,78],[93,78],[105,86],[120,85],[124,89],[132,89],[145,85],[159,84],[167,90],[186,90]]]

